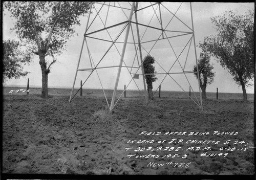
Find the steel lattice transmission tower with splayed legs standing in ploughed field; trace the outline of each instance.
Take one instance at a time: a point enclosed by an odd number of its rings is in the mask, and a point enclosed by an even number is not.
[[[187,18],[184,18],[185,15]],[[101,50],[101,47],[105,49]],[[194,50],[191,50],[191,47]],[[87,62],[85,67],[81,67],[83,51],[87,54],[84,58]],[[103,53],[98,55],[99,51]],[[95,52],[97,55],[94,56]],[[199,78],[194,84],[191,84],[188,78],[188,75],[194,76],[195,73],[199,77],[199,73],[194,72],[193,65],[191,66],[191,62],[194,62],[198,69],[191,3],[95,2],[91,4],[69,102],[77,94],[73,95],[73,91],[78,72],[89,73],[82,85],[93,73],[96,73],[108,107],[112,111],[125,91],[124,89],[116,100],[121,70],[125,69],[129,72],[130,78],[126,88],[133,82],[139,89],[136,81],[138,76],[141,76],[139,84],[143,84],[144,98],[148,103],[143,71],[143,57],[146,55],[165,55],[166,60],[155,60],[158,68],[155,74],[162,77],[162,81],[159,81],[160,85],[166,77],[170,77],[177,87],[186,92],[178,82],[181,79],[177,78],[178,75],[182,76],[182,83],[189,84],[193,93],[193,85],[197,84],[200,98],[195,93],[193,97],[189,95],[188,97],[203,109]],[[118,60],[116,64],[113,59]],[[99,71],[102,69],[108,72],[117,69],[116,77],[113,79],[115,84],[110,104],[101,81],[102,76],[106,75],[106,73],[100,74]]]

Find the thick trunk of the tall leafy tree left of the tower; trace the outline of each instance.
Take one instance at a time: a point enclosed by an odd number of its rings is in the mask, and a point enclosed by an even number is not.
[[[39,64],[41,66],[41,72],[42,72],[42,89],[41,89],[41,97],[42,98],[48,98],[48,71],[47,66],[45,62],[45,54],[39,54]]]

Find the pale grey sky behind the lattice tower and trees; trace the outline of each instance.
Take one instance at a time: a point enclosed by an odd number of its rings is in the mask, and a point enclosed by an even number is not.
[[[162,13],[162,21],[163,26],[167,25],[168,19],[172,17],[172,15],[168,12],[172,11],[175,12],[175,8],[180,5],[178,4],[164,4],[166,9],[161,7]],[[232,10],[236,13],[242,14],[246,12],[249,9],[254,10],[254,3],[191,3],[192,5],[192,12],[193,12],[193,22],[194,22],[194,31],[195,31],[195,43],[196,46],[198,46],[199,41],[203,41],[204,37],[209,35],[215,35],[216,31],[214,29],[214,25],[212,25],[210,21],[210,17],[217,16],[223,14],[225,11]],[[99,10],[99,5],[94,10]],[[168,9],[168,10],[167,10]],[[125,14],[129,16],[130,11],[125,11]],[[107,12],[107,9],[102,11],[102,19],[105,20],[104,13]],[[17,39],[15,32],[11,32],[10,28],[14,26],[14,20],[13,18],[9,17],[9,13],[6,12],[7,15],[3,16],[3,39]],[[97,13],[94,12],[91,15],[90,20],[92,21],[93,17]],[[138,13],[138,21],[142,24],[148,24],[148,22],[151,20],[151,17],[154,15],[154,11],[151,10],[144,10]],[[159,16],[158,16],[159,17]],[[179,11],[177,11],[177,17],[182,20],[185,24],[188,25],[188,27],[191,27],[191,16],[190,16],[190,6],[189,3],[184,3],[181,5]],[[108,26],[116,24],[119,21],[122,21],[122,19],[125,19],[125,15],[122,11],[115,10],[115,8],[110,9]],[[67,49],[66,51],[63,51],[63,53],[57,57],[57,63],[52,65],[51,73],[49,74],[49,80],[48,80],[48,86],[49,87],[68,87],[72,88],[77,63],[79,59],[79,54],[82,47],[82,41],[83,41],[83,34],[86,30],[86,25],[88,21],[88,16],[81,17],[81,26],[76,27],[76,34],[78,33],[78,36],[74,36],[70,38],[70,40],[67,43]],[[175,18],[174,18],[175,19]],[[181,21],[173,20],[172,25],[168,25],[168,28],[174,28],[172,30],[179,30],[182,31],[189,31],[189,29],[184,26],[183,23],[180,23]],[[90,24],[90,23],[89,23]],[[160,26],[158,23],[157,16],[153,16],[152,20],[150,21],[151,26]],[[103,26],[100,19],[98,21],[95,19],[95,22],[92,24],[88,32],[93,32],[97,28],[100,28]],[[145,28],[140,27],[140,37],[143,36],[143,32],[145,31]],[[109,33],[111,34],[111,37],[114,39],[116,37],[116,34],[120,32],[121,27],[116,27],[115,29],[111,29]],[[136,32],[136,27],[132,25],[131,29],[133,30],[133,33]],[[161,33],[160,33],[161,35]],[[166,35],[175,35],[175,33],[166,34]],[[92,34],[94,37],[100,37],[100,38],[106,38],[110,39],[108,34]],[[125,33],[123,33],[118,40],[123,40],[125,37]],[[143,41],[151,40],[154,38],[159,37],[159,31],[148,29],[145,32],[145,35],[143,36]],[[169,42],[168,40],[162,40],[157,41],[157,43],[154,45],[154,42],[150,43],[144,43],[142,44],[142,54],[143,57],[147,54],[147,52],[150,51],[150,54],[154,56],[155,60],[155,66],[157,73],[164,73],[164,71],[170,70],[170,72],[177,73],[180,72],[180,66],[184,67],[186,66],[187,71],[191,71],[193,69],[193,66],[196,64],[195,62],[195,48],[194,48],[194,41],[191,41],[190,49],[188,48],[188,45],[184,49],[185,45],[190,41],[189,38],[191,37],[191,34],[184,35],[177,38],[171,38],[172,40]],[[137,37],[134,37],[137,39]],[[128,42],[133,41],[132,32],[130,31]],[[105,42],[105,41],[98,41],[92,38],[88,38],[88,48],[91,53],[91,58],[93,59],[93,63],[96,65],[97,62],[101,59],[101,57],[104,55],[106,50],[108,50],[111,43]],[[170,44],[172,45],[170,47]],[[111,50],[106,54],[104,58],[106,60],[102,60],[100,62],[99,66],[110,66],[110,65],[118,65],[120,61],[120,54],[122,53],[122,44],[117,44],[117,47],[112,47]],[[152,49],[152,46],[154,46],[154,49]],[[173,48],[173,49],[172,49]],[[176,60],[176,57],[179,56],[180,52],[184,49],[184,53],[180,56],[180,63],[173,62]],[[116,51],[118,50],[118,51]],[[196,48],[197,52],[197,58],[199,58],[200,49]],[[126,65],[132,65],[134,63],[134,44],[127,44],[126,51],[124,54],[124,62]],[[187,61],[186,61],[186,56]],[[185,63],[186,61],[186,63]],[[135,60],[136,62],[136,60]],[[214,72],[216,72],[216,76],[214,78],[214,82],[210,85],[207,85],[206,92],[216,92],[216,88],[218,87],[220,93],[242,93],[242,88],[234,82],[232,76],[228,73],[227,70],[224,70],[222,66],[216,61],[215,58],[211,58],[211,63],[214,65]],[[160,64],[160,65],[159,65]],[[173,68],[171,66],[173,65]],[[81,56],[81,61],[79,64],[79,69],[81,68],[90,68],[91,64],[89,61],[88,51],[87,47],[83,47],[83,54]],[[161,68],[162,67],[162,68]],[[171,68],[171,69],[170,69]],[[26,77],[21,77],[19,79],[11,79],[8,80],[6,83],[7,86],[24,86],[26,87],[28,78],[30,79],[30,85],[31,86],[41,86],[41,71],[39,66],[39,59],[37,56],[34,57],[33,61],[30,63],[30,65],[26,65],[24,67],[25,71],[31,72]],[[132,73],[136,73],[137,69],[133,69]],[[98,70],[97,72],[94,72],[88,81],[84,84],[84,88],[101,88],[103,86],[104,88],[113,88],[116,81],[118,68],[111,68],[111,69],[102,69]],[[98,73],[98,74],[97,74]],[[139,74],[139,72],[137,72]],[[84,82],[84,80],[87,79],[87,77],[90,75],[90,72],[78,72],[77,78],[75,81],[75,87],[79,87],[80,80]],[[101,81],[99,81],[98,76],[100,77]],[[153,83],[153,90],[156,89],[160,83],[161,89],[165,91],[182,91],[182,89],[185,89],[186,91],[189,88],[189,83],[191,86],[194,87],[194,91],[198,92],[198,81],[196,80],[195,76],[193,74],[187,74],[187,76],[180,75],[180,74],[172,74],[170,76],[165,75],[157,75],[158,80]],[[176,83],[178,82],[178,83]],[[130,84],[129,84],[130,83]],[[118,88],[122,89],[124,84],[126,86],[129,84],[129,89],[139,89],[143,88],[143,82],[141,75],[139,75],[139,79],[135,79],[134,81],[131,80],[131,74],[128,73],[127,69],[122,69],[121,75],[120,75],[120,81],[118,84]],[[181,88],[180,88],[181,86]],[[247,93],[254,93],[254,88],[246,88]]]

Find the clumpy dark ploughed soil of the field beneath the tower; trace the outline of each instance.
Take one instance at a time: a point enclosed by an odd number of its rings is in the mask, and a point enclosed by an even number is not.
[[[156,98],[146,105],[142,98],[122,98],[110,114],[104,98],[78,97],[71,103],[68,96],[5,98],[3,173],[254,174],[254,149],[249,148],[254,147],[254,102],[206,100],[203,107],[202,111],[189,99]],[[139,135],[142,131],[161,134]],[[187,133],[164,135],[175,131]],[[190,132],[209,134],[187,136]],[[183,142],[168,143],[172,139]],[[189,144],[188,140],[219,144]],[[159,146],[181,149],[157,150]],[[154,150],[146,150],[150,147]],[[195,148],[186,150],[191,147]],[[204,152],[217,155],[201,156]],[[132,154],[159,154],[160,158],[127,156]],[[180,157],[173,158],[175,154]]]

